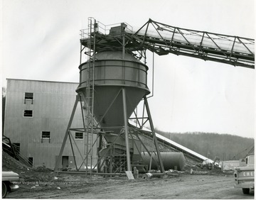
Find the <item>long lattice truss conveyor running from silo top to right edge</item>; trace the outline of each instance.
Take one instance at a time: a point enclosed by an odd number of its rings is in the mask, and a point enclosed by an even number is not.
[[[137,52],[134,54],[137,57],[144,56],[143,52],[150,50],[158,55],[172,53],[255,68],[255,40],[250,38],[178,28],[151,19],[137,30],[121,23],[121,26],[111,28],[99,26],[92,34],[97,35],[95,52],[122,50],[123,42],[119,36],[124,35],[125,50],[133,54]],[[80,41],[82,45],[88,43],[85,30],[81,30]]]

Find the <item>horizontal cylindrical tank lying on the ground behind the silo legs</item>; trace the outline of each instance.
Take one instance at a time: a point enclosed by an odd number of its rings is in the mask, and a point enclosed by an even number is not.
[[[160,155],[165,170],[174,170],[176,167],[178,171],[184,170],[185,157],[182,152],[160,152]],[[152,152],[152,160],[149,153],[142,152],[142,159],[144,164],[150,165],[151,160],[151,170],[157,170],[157,165],[153,158],[156,160],[156,162],[158,162],[156,152]]]

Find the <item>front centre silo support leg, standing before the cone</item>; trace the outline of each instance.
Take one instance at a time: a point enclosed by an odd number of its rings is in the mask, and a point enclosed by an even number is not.
[[[122,88],[122,99],[123,99],[123,109],[124,109],[124,133],[125,133],[125,145],[127,151],[127,171],[132,171],[131,159],[129,153],[129,137],[128,137],[128,118],[127,118],[127,102],[125,88]]]

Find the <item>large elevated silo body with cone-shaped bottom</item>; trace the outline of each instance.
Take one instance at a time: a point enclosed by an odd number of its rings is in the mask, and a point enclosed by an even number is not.
[[[87,73],[90,65],[92,75],[92,61],[80,65],[80,84],[77,91],[87,96]],[[146,86],[148,67],[139,62],[134,56],[120,51],[105,51],[95,55],[95,91],[94,114],[97,121],[102,119],[103,127],[124,126],[122,88],[126,91],[127,118],[139,104],[144,95],[149,94]],[[92,78],[90,78],[92,84]],[[121,91],[120,91],[121,90]],[[119,133],[120,129],[113,129]]]

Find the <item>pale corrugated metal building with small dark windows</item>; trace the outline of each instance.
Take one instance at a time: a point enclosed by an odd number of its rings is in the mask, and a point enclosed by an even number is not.
[[[4,135],[33,166],[55,167],[77,87],[78,83],[70,82],[7,79]],[[80,106],[71,127],[83,127]],[[80,151],[74,148],[75,155],[84,156],[86,135],[74,132],[72,136]],[[75,160],[82,163],[82,157],[75,157]],[[69,140],[58,167],[75,167]]]

